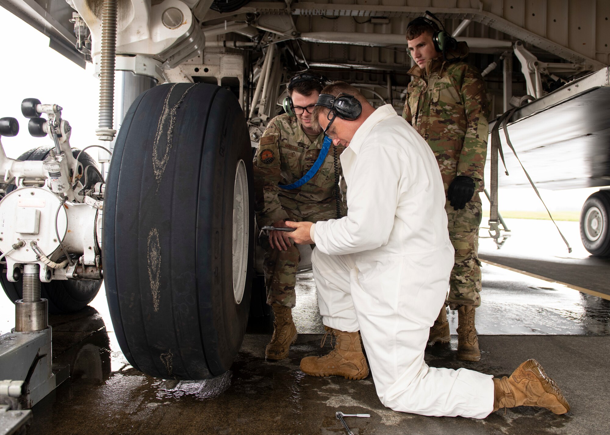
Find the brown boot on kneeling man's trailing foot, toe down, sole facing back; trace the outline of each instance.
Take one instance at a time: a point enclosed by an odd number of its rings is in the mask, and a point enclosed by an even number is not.
[[[493,379],[493,411],[513,406],[540,406],[565,414],[570,405],[536,359],[528,359],[512,375]]]

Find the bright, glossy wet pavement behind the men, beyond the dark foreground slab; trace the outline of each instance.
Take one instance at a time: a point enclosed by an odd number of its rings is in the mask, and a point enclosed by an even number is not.
[[[610,334],[610,300],[490,264],[481,267],[484,292],[476,311],[479,335]],[[313,275],[300,275],[298,287],[297,331],[323,333]],[[454,333],[458,312],[449,311],[447,317]],[[253,331],[261,331],[260,325]]]

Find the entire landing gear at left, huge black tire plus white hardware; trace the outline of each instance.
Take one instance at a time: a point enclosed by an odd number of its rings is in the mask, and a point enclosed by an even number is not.
[[[239,102],[206,84],[141,94],[107,184],[86,153],[71,149],[61,110],[24,101],[30,132],[45,132],[50,149],[13,160],[0,144],[1,282],[16,312],[15,328],[0,337],[8,379],[0,395],[31,408],[66,378],[51,366],[49,306],[82,308],[102,277],[132,366],[159,378],[224,373],[245,334],[254,272],[251,145]],[[0,135],[17,133],[16,119],[0,120]]]

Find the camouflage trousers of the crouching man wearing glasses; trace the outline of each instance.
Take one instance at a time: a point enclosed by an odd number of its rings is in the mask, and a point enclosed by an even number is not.
[[[317,222],[328,221],[337,218],[337,211],[334,202],[325,207],[326,210],[315,214],[310,214],[306,218],[301,218],[292,213],[292,210],[284,209],[290,221],[295,222]],[[269,238],[266,233],[261,232],[260,246],[265,250],[263,270],[265,272],[265,288],[267,289],[267,303],[277,303],[279,305],[294,308],[296,305],[296,271],[298,269],[301,255],[298,247],[292,243],[288,250],[271,249]],[[312,245],[313,247],[313,245]]]

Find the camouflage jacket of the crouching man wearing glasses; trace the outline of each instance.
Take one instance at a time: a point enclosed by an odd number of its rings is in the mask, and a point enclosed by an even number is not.
[[[276,116],[267,124],[254,156],[254,201],[259,228],[288,219],[285,209],[296,216],[307,218],[311,214],[336,207],[332,144],[324,163],[307,183],[292,190],[278,186],[278,183],[294,183],[309,171],[320,155],[323,140],[324,135],[320,133],[315,141],[310,141],[296,117],[286,114]],[[339,156],[344,149],[342,146],[337,147],[340,175]],[[345,207],[344,182],[341,190]]]

